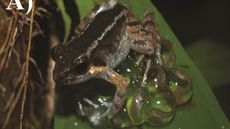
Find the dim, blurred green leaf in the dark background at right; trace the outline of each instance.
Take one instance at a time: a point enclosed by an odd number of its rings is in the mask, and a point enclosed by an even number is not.
[[[230,51],[227,45],[204,39],[192,43],[186,50],[211,87],[230,84]]]

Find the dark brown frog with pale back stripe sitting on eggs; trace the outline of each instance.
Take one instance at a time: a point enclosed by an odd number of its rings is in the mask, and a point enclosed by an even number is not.
[[[146,11],[140,21],[118,0],[105,0],[84,18],[70,40],[52,48],[53,79],[63,86],[77,86],[92,78],[113,84],[116,91],[107,113],[108,119],[112,119],[125,104],[129,86],[115,68],[130,51],[140,54],[137,63],[145,56],[154,55],[155,62],[162,64],[157,31],[152,11]],[[143,81],[151,61],[146,64]]]

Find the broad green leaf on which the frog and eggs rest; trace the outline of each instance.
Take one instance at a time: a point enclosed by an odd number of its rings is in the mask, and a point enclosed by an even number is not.
[[[78,3],[78,0],[76,0]],[[79,10],[86,7],[92,9],[92,0],[79,2]],[[158,10],[149,0],[121,0],[140,20],[143,19],[144,12],[148,9],[155,13],[156,23],[159,27],[162,38],[174,43],[173,49],[176,54],[176,65],[187,66],[183,69],[191,76],[193,81],[193,98],[187,105],[177,108],[175,118],[171,123],[161,127],[161,129],[229,129],[230,124],[221,110],[216,98],[214,97],[207,81],[203,78],[200,71],[189,59],[180,42],[166,24]],[[86,9],[86,8],[85,8]],[[89,10],[84,10],[89,12]],[[86,15],[87,13],[80,12]],[[61,105],[60,105],[61,106]],[[77,126],[76,125],[77,122]],[[63,117],[55,116],[55,129],[92,129],[87,122],[82,122],[74,116]],[[144,129],[154,129],[144,125]],[[134,129],[134,128],[133,128]]]

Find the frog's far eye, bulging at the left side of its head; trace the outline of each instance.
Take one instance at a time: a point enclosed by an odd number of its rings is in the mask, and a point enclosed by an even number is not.
[[[56,45],[52,48],[51,56],[55,62],[58,61],[60,62],[63,60],[62,51],[63,51],[63,46],[61,45]]]

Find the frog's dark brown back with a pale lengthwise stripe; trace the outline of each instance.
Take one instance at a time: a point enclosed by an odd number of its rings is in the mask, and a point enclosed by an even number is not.
[[[121,4],[98,13],[85,26],[79,37],[69,42],[69,45],[77,53],[87,53],[90,54],[89,56],[97,56],[99,53],[101,55],[106,51],[116,50],[125,26],[126,13],[127,9]]]

